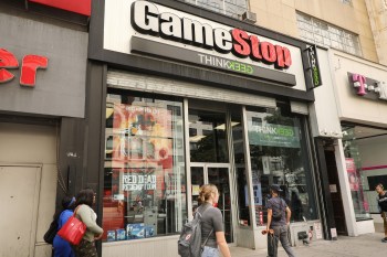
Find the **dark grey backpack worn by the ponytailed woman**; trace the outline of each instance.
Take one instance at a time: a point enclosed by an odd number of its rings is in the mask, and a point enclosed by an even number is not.
[[[205,243],[201,244],[201,217],[209,207],[205,208],[202,213],[199,212],[199,208],[195,214],[195,218],[186,223],[181,228],[180,237],[177,242],[178,253],[181,257],[200,257],[208,238],[212,234],[213,228],[208,234]]]

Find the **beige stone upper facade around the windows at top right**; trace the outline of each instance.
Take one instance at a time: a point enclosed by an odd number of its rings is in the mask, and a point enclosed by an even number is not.
[[[386,1],[353,0],[348,4],[342,0],[260,0],[250,1],[250,10],[257,13],[257,25],[294,38],[300,38],[296,12],[323,20],[357,34],[362,57],[386,64],[387,3],[384,13],[380,12],[381,3]]]

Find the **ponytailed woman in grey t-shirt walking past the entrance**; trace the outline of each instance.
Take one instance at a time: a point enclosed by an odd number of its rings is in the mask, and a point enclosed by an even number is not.
[[[223,218],[218,204],[219,192],[216,185],[205,184],[200,188],[199,201],[201,205],[197,212],[201,214],[201,244],[205,244],[201,257],[231,257],[229,246],[224,238]]]

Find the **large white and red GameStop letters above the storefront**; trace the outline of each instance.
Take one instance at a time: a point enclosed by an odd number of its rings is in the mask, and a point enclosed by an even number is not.
[[[132,26],[139,33],[160,36],[219,53],[232,53],[238,57],[250,57],[255,62],[273,64],[275,68],[292,65],[287,47],[261,41],[254,34],[240,29],[231,31],[216,28],[174,13],[159,12],[157,6],[147,1],[132,4]]]

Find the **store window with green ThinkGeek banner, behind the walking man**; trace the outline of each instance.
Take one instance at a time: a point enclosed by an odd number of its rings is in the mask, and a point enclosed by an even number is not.
[[[316,219],[303,118],[293,115],[289,105],[278,104],[275,109],[248,110],[247,122],[257,225],[266,223],[271,184],[279,184],[283,190],[280,196],[292,211],[292,222]]]

